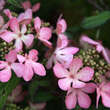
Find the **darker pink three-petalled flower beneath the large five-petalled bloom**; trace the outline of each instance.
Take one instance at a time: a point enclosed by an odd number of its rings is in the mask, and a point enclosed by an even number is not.
[[[69,89],[65,99],[67,109],[74,109],[77,102],[81,108],[89,108],[91,105],[91,99],[86,93],[93,93],[95,88],[96,85],[94,83],[88,83],[83,88]]]

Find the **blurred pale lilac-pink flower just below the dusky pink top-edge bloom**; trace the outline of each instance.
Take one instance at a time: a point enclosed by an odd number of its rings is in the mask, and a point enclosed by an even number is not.
[[[31,9],[27,9],[24,13],[21,13],[18,18],[17,18],[18,22],[20,24],[30,24],[32,21],[32,10]]]

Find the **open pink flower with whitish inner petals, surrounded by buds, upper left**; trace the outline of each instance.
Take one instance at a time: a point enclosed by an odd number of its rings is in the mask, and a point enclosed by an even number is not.
[[[27,47],[30,47],[34,36],[32,34],[25,35],[27,29],[26,25],[22,25],[21,31],[19,29],[19,24],[16,18],[12,18],[10,21],[10,28],[13,32],[11,31],[6,31],[3,34],[0,35],[0,37],[5,40],[6,42],[11,42],[12,40],[15,41],[15,47],[16,50],[19,52],[23,48],[23,42]]]

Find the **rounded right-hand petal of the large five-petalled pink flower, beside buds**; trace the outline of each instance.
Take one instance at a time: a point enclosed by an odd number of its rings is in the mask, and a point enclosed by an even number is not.
[[[77,78],[82,81],[90,81],[93,75],[94,75],[94,70],[92,68],[84,67],[78,72]]]

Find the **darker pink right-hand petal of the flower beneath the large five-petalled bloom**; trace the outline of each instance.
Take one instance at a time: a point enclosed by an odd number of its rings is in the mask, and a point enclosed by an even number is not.
[[[96,84],[87,83],[81,90],[86,93],[93,93],[96,89]]]

